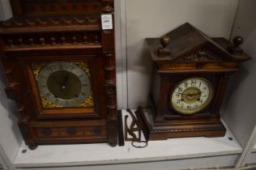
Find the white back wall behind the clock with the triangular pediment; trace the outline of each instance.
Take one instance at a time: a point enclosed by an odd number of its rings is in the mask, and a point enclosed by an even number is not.
[[[144,39],[190,22],[208,36],[229,38],[238,0],[127,0],[128,106],[146,105],[151,64]],[[147,52],[146,52],[147,54]]]

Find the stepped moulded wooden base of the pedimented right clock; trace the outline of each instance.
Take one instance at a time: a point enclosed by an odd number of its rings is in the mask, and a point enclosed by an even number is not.
[[[209,118],[198,121],[161,121],[149,122],[152,116],[144,113],[142,108],[138,108],[137,117],[143,122],[144,134],[148,140],[166,140],[168,138],[185,137],[223,137],[225,127],[220,120],[209,120]]]

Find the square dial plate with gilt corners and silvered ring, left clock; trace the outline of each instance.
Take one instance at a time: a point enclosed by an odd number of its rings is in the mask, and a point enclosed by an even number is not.
[[[43,108],[92,108],[90,70],[87,62],[34,63]]]

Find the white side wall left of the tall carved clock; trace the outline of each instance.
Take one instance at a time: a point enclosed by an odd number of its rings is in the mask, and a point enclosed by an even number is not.
[[[11,18],[11,6],[8,0],[1,0],[0,2],[0,20],[5,20]],[[1,68],[2,70],[2,68]],[[3,158],[6,156],[10,159],[10,162],[15,159],[15,155],[19,150],[19,146],[22,142],[22,137],[19,133],[19,128],[17,125],[18,114],[15,111],[15,104],[12,100],[6,98],[4,91],[5,81],[2,77],[3,73],[1,71],[0,76],[0,154]],[[4,153],[2,153],[4,152]],[[9,160],[5,160],[9,162]]]

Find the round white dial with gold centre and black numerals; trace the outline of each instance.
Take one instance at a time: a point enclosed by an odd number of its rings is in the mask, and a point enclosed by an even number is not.
[[[171,105],[178,113],[198,113],[211,102],[213,86],[207,79],[185,79],[174,88]]]

